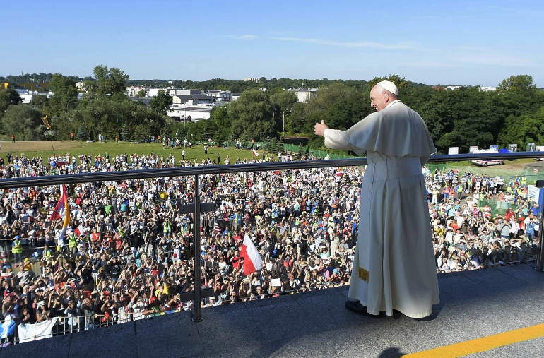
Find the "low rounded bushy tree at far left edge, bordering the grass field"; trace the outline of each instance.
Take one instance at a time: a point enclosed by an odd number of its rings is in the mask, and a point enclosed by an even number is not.
[[[38,141],[44,138],[46,130],[41,117],[42,113],[29,105],[9,106],[2,117],[2,130],[8,136],[15,134],[22,141]]]

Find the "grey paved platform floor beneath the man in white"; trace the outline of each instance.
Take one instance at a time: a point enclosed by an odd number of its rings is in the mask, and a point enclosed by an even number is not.
[[[8,346],[0,358],[398,357],[543,323],[544,273],[534,266],[439,274],[441,303],[419,320],[353,314],[341,287],[206,308],[200,323],[184,311]],[[542,352],[544,337],[468,357]]]

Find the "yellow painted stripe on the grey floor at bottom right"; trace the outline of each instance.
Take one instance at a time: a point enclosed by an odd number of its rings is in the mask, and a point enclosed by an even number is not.
[[[401,358],[455,358],[463,357],[468,354],[485,352],[493,348],[502,347],[504,345],[512,345],[512,343],[522,342],[524,340],[532,340],[544,336],[544,323],[536,326],[520,328],[519,330],[509,330],[508,332],[499,333],[497,335],[488,335],[487,337],[478,338],[475,340],[467,340],[466,342],[456,343],[454,345],[445,345],[444,347],[434,348],[432,350],[424,350],[422,352],[406,354]]]

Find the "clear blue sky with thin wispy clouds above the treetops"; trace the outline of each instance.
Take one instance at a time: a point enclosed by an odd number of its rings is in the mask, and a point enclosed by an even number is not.
[[[2,1],[0,75],[342,78],[544,87],[540,1]],[[50,4],[48,4],[50,3]]]

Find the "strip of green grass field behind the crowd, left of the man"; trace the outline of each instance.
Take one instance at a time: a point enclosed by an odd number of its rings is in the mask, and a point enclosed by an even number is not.
[[[140,144],[134,144],[132,142],[119,142],[115,143],[114,141],[106,142],[106,143],[85,143],[81,141],[36,141],[36,142],[0,142],[1,145],[1,153],[0,155],[7,155],[8,153],[11,153],[12,155],[20,155],[23,153],[25,157],[42,157],[46,159],[47,157],[51,157],[53,153],[55,155],[66,155],[69,153],[70,155],[93,155],[95,157],[96,155],[102,155],[102,157],[105,155],[105,153],[110,153],[110,158],[115,157],[119,154],[138,154],[138,155],[150,155],[151,152],[153,152],[155,155],[174,155],[175,160],[177,163],[179,163],[179,160],[182,159],[182,150],[185,149],[185,159],[191,160],[194,162],[194,160],[198,160],[201,162],[203,159],[207,159],[208,157],[211,160],[217,160],[218,153],[221,156],[221,163],[225,163],[225,157],[229,155],[230,157],[230,163],[235,163],[236,158],[240,157],[240,160],[243,160],[244,157],[246,157],[248,160],[252,160],[254,158],[254,154],[251,150],[237,150],[235,148],[230,149],[223,149],[223,148],[215,148],[215,147],[209,147],[208,148],[208,155],[204,154],[204,146],[203,145],[193,145],[193,148],[190,149],[189,146],[187,148],[183,148],[183,145],[181,147],[177,147],[176,149],[172,148],[165,148],[162,149],[162,143],[140,143]],[[259,153],[259,158],[262,158],[263,151],[257,150]],[[271,153],[267,155],[272,155]],[[277,160],[277,153],[276,156],[274,156],[275,160]]]

